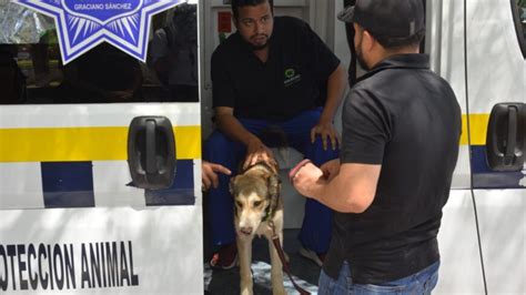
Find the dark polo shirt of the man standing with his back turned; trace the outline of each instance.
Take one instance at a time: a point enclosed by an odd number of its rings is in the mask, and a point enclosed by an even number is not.
[[[356,284],[406,277],[439,260],[436,235],[458,155],[461,109],[428,57],[377,64],[344,102],[341,161],[381,164],[376,195],[361,214],[336,213],[323,269],[343,261]],[[335,196],[336,197],[336,196]]]

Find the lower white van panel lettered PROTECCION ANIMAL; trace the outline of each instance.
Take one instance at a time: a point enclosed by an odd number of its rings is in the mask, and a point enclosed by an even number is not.
[[[2,273],[10,286],[7,294],[23,293],[21,279],[51,275],[53,287],[51,281],[45,287],[38,283],[36,294],[203,294],[202,233],[195,230],[202,226],[200,206],[2,210],[1,214],[2,248],[17,246],[14,260],[6,265],[14,267],[16,281],[11,271]],[[67,256],[73,271],[68,271]],[[110,267],[113,262],[118,267]],[[20,265],[26,266],[22,276]],[[61,277],[64,282],[59,285]]]

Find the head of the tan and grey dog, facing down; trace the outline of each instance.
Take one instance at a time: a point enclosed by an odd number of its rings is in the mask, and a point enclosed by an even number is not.
[[[281,182],[277,170],[255,164],[232,177],[230,192],[234,196],[235,230],[239,235],[253,235],[261,222],[271,218],[277,204]]]

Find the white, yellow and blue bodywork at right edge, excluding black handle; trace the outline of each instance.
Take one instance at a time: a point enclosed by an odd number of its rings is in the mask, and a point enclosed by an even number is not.
[[[469,148],[488,294],[526,293],[526,170],[523,163],[523,171],[493,171],[486,154],[494,105],[526,103],[526,61],[517,38],[524,32],[516,31],[513,2],[467,1],[467,103],[469,118],[485,118],[471,124]]]

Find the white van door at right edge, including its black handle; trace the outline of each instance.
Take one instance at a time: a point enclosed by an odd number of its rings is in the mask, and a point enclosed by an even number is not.
[[[488,294],[526,292],[526,2],[467,1],[473,193]]]

